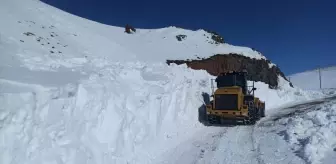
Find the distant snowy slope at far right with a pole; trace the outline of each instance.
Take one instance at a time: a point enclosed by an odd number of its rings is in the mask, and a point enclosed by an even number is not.
[[[322,89],[336,89],[336,67],[296,73],[288,76],[288,79],[293,85],[302,89],[318,90],[320,89],[320,82]]]

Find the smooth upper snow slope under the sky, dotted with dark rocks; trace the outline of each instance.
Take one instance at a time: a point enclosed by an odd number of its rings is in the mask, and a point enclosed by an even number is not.
[[[167,58],[193,59],[232,52],[266,59],[251,48],[211,44],[211,35],[204,30],[167,27],[137,29],[129,35],[124,28],[79,18],[40,1],[2,0],[0,19],[4,20],[0,34],[2,42],[10,45],[8,51],[31,59],[27,66],[39,64],[44,69],[50,69],[50,65],[74,67],[92,57],[165,62]],[[180,34],[187,36],[183,42],[176,39]]]

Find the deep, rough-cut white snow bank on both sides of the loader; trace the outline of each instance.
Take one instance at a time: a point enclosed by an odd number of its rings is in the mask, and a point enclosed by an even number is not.
[[[78,83],[1,93],[0,163],[150,163],[205,128],[197,110],[210,78],[185,65],[110,63]],[[258,85],[267,108],[309,98]]]

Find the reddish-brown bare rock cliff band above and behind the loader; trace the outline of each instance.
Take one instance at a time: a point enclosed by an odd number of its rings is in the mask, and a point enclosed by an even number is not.
[[[252,59],[238,54],[218,54],[206,59],[167,60],[166,62],[168,65],[172,63],[177,65],[186,64],[195,70],[203,69],[213,76],[217,76],[219,73],[225,71],[247,70],[248,80],[264,82],[268,84],[271,89],[278,87],[279,75],[286,79],[284,73],[281,72],[278,67],[274,65],[271,68],[269,67],[269,60]],[[291,85],[291,87],[293,86]]]

